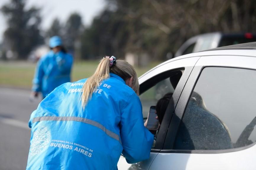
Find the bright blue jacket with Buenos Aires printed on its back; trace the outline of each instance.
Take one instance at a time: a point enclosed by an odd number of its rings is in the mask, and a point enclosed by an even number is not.
[[[27,169],[117,169],[149,158],[153,135],[144,127],[141,102],[119,76],[110,73],[83,110],[86,79],[52,91],[31,114]]]

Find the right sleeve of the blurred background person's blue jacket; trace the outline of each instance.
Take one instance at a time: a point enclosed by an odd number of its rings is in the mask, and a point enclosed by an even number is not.
[[[73,57],[70,54],[59,52],[56,57],[58,69],[63,74],[69,74],[73,64]]]

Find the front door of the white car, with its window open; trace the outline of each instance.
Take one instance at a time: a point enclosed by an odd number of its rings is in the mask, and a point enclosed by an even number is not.
[[[175,58],[160,64],[139,78],[140,99],[144,120],[147,118],[150,106],[155,106],[158,99],[163,97],[166,93],[172,93],[172,99],[166,109],[160,129],[155,132],[157,133],[157,138],[155,140],[155,146],[151,150],[150,158],[136,164],[127,164],[125,158],[120,156],[117,164],[118,169],[149,169],[152,161],[163,147],[174,108],[199,58],[200,57]]]

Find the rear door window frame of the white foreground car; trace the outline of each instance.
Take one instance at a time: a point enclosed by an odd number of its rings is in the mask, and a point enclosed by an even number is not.
[[[223,61],[221,61],[221,59],[220,60],[216,59],[218,57],[223,58]],[[166,140],[165,140],[163,149],[160,151],[160,153],[203,153],[203,154],[228,153],[228,152],[234,152],[234,151],[241,151],[246,148],[250,148],[256,144],[255,142],[247,146],[232,148],[232,149],[223,149],[223,150],[174,150],[173,149],[173,145],[176,140],[179,126],[181,124],[183,115],[186,111],[186,107],[188,105],[189,99],[204,68],[206,67],[222,67],[223,68],[224,67],[224,68],[241,68],[241,69],[256,71],[256,66],[252,66],[252,62],[256,61],[255,58],[251,58],[248,56],[232,56],[234,57],[233,58],[234,63],[231,63],[229,60],[230,56],[218,56],[218,57],[204,56],[204,57],[201,57],[196,63],[181,93],[180,100],[178,101],[173,114],[174,116],[171,119],[170,125],[168,127],[168,132],[166,135]],[[243,60],[241,60],[241,57],[245,57],[245,58],[242,58]],[[207,58],[210,58],[210,60],[207,60]],[[214,60],[212,64],[211,64],[211,60]]]

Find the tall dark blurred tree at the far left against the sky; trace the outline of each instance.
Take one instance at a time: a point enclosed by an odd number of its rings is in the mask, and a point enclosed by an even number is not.
[[[11,0],[1,7],[1,12],[8,23],[4,32],[6,50],[11,50],[15,58],[26,59],[28,53],[43,42],[39,30],[39,9],[25,9],[25,0]]]

